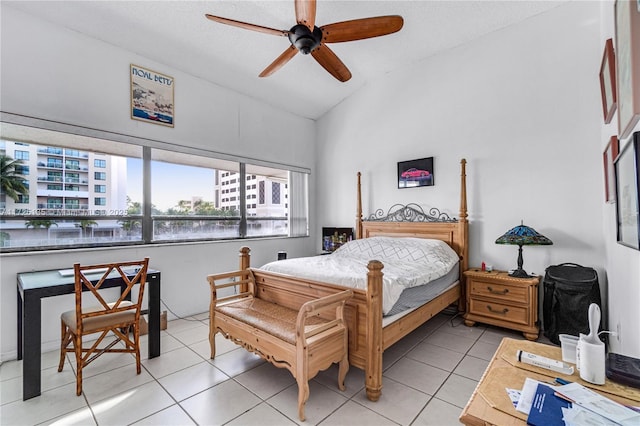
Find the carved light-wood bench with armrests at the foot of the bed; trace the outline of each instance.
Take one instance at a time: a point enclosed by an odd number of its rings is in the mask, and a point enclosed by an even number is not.
[[[351,290],[310,300],[295,310],[260,299],[249,268],[208,275],[207,281],[211,287],[212,359],[216,356],[215,336],[221,333],[276,367],[288,369],[298,383],[301,421],[305,420],[309,380],[319,371],[338,363],[338,388],[344,390],[349,360],[343,315]]]

